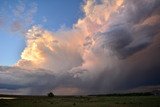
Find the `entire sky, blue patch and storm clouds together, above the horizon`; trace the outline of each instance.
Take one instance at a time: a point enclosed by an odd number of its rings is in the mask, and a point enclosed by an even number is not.
[[[0,93],[160,85],[159,0],[0,1]]]

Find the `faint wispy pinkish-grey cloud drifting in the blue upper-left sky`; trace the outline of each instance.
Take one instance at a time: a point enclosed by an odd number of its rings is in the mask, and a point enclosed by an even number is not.
[[[34,23],[33,17],[36,12],[37,4],[33,3],[27,7],[24,1],[19,1],[13,9],[14,19],[11,22],[11,31],[25,32]]]

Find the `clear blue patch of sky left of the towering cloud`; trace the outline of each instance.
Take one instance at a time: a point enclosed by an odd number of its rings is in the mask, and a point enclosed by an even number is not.
[[[1,0],[0,50],[3,53],[0,53],[0,65],[10,66],[20,59],[25,47],[25,34],[22,30],[27,30],[32,25],[41,25],[51,31],[63,27],[72,28],[78,18],[83,16],[82,3],[82,0]],[[14,29],[16,23],[21,28]]]

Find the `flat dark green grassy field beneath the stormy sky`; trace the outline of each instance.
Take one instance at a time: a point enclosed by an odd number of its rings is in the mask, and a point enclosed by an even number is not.
[[[0,99],[0,107],[160,107],[160,96],[21,96]]]

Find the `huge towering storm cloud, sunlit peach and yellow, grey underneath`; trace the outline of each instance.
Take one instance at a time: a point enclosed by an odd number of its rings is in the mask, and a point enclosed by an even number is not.
[[[1,67],[2,89],[14,84],[26,94],[65,89],[90,94],[159,84],[159,5],[158,0],[88,0],[84,18],[72,29],[33,26],[16,71]]]

